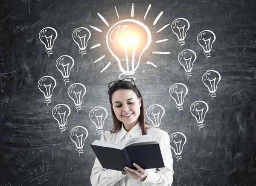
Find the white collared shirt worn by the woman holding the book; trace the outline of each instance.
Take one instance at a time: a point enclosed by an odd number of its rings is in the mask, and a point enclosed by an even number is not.
[[[102,168],[99,160],[95,159],[92,174],[90,177],[93,186],[171,186],[173,182],[173,159],[170,147],[169,135],[167,132],[145,125],[146,134],[151,136],[152,140],[156,140],[160,145],[163,163],[165,167],[157,169],[147,169],[148,175],[141,182],[134,180],[130,174],[122,174],[121,171],[115,171]],[[125,142],[131,137],[141,136],[141,129],[137,123],[129,132],[125,131],[124,126],[116,133],[105,131],[101,139],[102,141],[114,142],[124,146]],[[136,162],[135,162],[136,163]],[[124,170],[125,171],[125,170]]]

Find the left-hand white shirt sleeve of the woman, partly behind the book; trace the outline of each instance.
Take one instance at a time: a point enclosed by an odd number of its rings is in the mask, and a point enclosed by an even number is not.
[[[100,140],[106,141],[106,132],[102,134]],[[127,174],[122,174],[121,171],[102,168],[98,158],[96,157],[90,181],[92,186],[113,186],[117,181],[121,180],[126,175]]]

